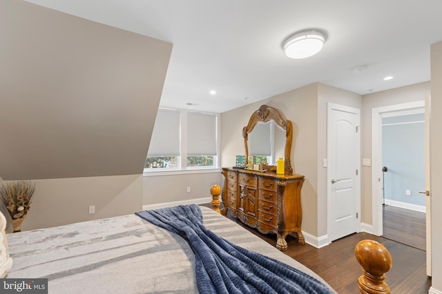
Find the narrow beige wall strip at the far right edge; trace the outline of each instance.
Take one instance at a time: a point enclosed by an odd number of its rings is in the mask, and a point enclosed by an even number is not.
[[[431,46],[431,223],[432,223],[432,288],[442,293],[442,42]]]

